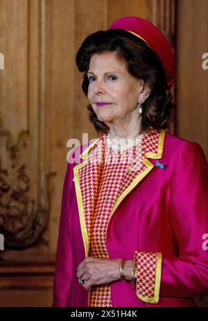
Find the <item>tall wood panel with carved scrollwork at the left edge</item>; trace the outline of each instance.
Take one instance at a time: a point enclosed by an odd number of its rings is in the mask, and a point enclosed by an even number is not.
[[[0,255],[3,261],[38,261],[48,247],[43,232],[53,174],[42,170],[40,1],[0,2],[0,230],[6,245]],[[21,256],[13,251],[24,248]]]

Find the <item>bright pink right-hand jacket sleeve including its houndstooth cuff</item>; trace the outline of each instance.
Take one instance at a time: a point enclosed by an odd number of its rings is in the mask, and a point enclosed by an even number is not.
[[[169,215],[179,255],[135,252],[135,290],[144,302],[208,293],[208,166],[196,142],[187,142],[177,156]]]

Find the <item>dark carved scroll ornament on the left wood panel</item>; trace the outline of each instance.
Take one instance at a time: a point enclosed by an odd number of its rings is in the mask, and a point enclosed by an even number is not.
[[[1,154],[8,156],[6,168],[2,167],[0,157],[0,232],[5,245],[12,249],[31,247],[38,240],[46,227],[49,218],[49,189],[46,190],[44,204],[38,199],[31,199],[29,190],[31,181],[19,153],[26,149],[28,133],[21,131],[15,143],[12,134],[3,128],[0,121],[0,141],[5,142],[6,150]],[[3,153],[2,153],[3,151]],[[54,173],[53,173],[54,174]],[[46,181],[51,174],[46,175]],[[47,184],[49,188],[49,184]]]

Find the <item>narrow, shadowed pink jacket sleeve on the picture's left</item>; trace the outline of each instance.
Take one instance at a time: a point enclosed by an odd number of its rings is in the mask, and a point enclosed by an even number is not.
[[[62,206],[58,245],[55,257],[55,277],[53,281],[53,306],[65,306],[71,283],[72,254],[69,236],[70,190],[73,180],[73,165],[67,163],[67,172],[62,192]]]

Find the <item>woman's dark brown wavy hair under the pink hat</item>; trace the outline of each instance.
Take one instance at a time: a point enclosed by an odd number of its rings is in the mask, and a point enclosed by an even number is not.
[[[116,52],[128,66],[128,72],[137,79],[143,79],[150,85],[151,92],[144,101],[141,114],[141,130],[149,127],[168,129],[174,108],[171,90],[166,83],[164,68],[157,54],[146,42],[123,29],[97,31],[89,35],[81,44],[76,55],[76,64],[83,75],[83,92],[87,96],[89,80],[87,72],[89,62],[95,53]],[[89,120],[94,124],[97,133],[109,131],[104,122],[98,120],[91,105],[88,107]]]

